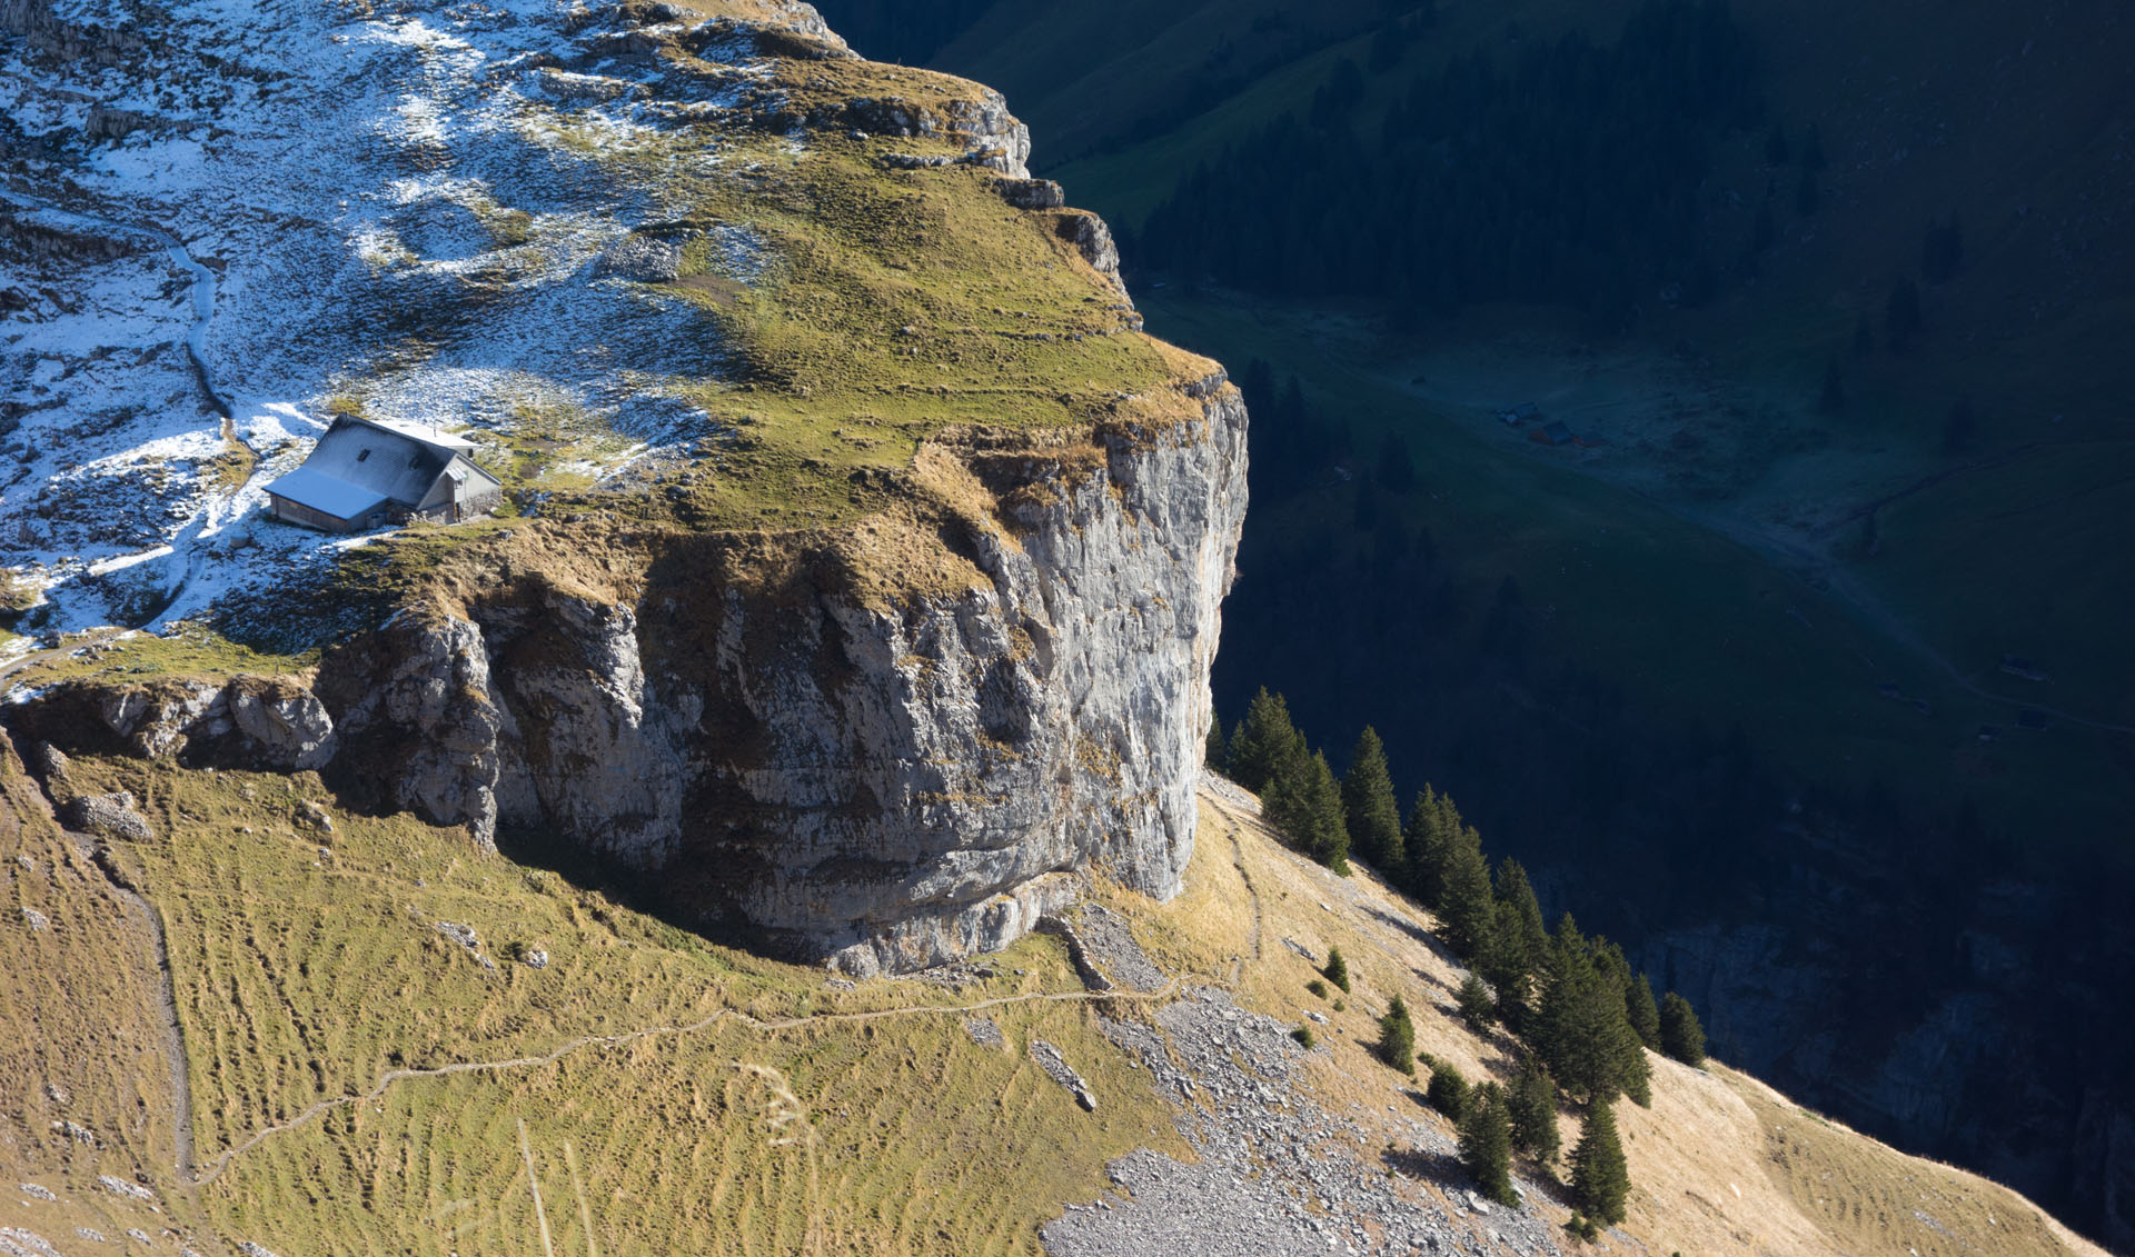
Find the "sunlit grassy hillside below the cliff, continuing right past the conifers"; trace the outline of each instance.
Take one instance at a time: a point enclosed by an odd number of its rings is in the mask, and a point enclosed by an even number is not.
[[[1029,1253],[1108,1195],[1114,1157],[1221,1155],[1236,1101],[1153,1076],[1206,1052],[1179,1020],[1204,988],[1317,1031],[1309,1052],[1277,1035],[1255,1123],[1337,1114],[1313,1163],[1369,1167],[1448,1234],[1533,1225],[1576,1251],[1546,1167],[1516,1167],[1529,1210],[1469,1212],[1433,1152],[1450,1127],[1375,1054],[1398,995],[1422,1052],[1509,1069],[1509,1041],[1454,1016],[1435,922],[1290,854],[1234,792],[1204,796],[1179,901],[1095,888],[1132,937],[1093,960],[1121,982],[1100,992],[1042,935],[946,982],[828,982],[457,830],[344,813],[305,777],[77,758],[43,781],[9,749],[0,1009],[38,1033],[0,1054],[0,1170],[23,1184],[0,1219],[64,1253],[94,1251],[77,1227],[203,1253]],[[47,811],[111,790],[143,830]],[[1330,948],[1347,995],[1309,990]],[[1151,1033],[1172,1056],[1127,1048]],[[1648,1251],[2090,1251],[1721,1065],[1652,1065],[1652,1108],[1618,1118]],[[1296,1170],[1270,1152],[1264,1174]]]

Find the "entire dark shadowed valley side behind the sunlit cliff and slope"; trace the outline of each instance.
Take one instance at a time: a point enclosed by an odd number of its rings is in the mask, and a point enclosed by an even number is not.
[[[935,64],[1247,391],[1225,721],[1375,723],[1723,1054],[2135,1244],[2131,55],[2101,0],[1089,0]]]

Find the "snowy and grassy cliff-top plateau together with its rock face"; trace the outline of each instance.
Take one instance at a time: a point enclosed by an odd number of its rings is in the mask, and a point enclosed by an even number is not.
[[[318,770],[856,975],[1179,890],[1247,416],[997,94],[803,4],[92,9],[6,11],[62,369],[0,527],[19,627],[92,634],[17,638],[19,738]],[[269,519],[335,414],[470,437],[506,519]]]

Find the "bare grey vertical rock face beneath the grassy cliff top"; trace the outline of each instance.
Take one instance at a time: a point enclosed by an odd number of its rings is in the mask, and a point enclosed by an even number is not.
[[[1168,898],[1191,856],[1247,416],[1221,376],[1176,403],[929,442],[910,476],[952,504],[929,527],[863,521],[769,568],[764,534],[681,538],[634,600],[534,572],[314,677],[62,685],[11,723],[318,768],[483,845],[540,830],[848,973],[995,950],[1089,871]],[[865,576],[899,546],[924,580]]]

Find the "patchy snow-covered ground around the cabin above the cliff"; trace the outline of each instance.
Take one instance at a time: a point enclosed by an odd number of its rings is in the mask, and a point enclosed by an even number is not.
[[[0,111],[62,141],[0,181],[0,568],[43,587],[30,627],[169,623],[350,544],[265,514],[329,401],[444,429],[562,405],[613,437],[570,450],[589,474],[707,429],[681,388],[713,322],[615,258],[717,175],[764,77],[745,36],[677,81],[553,0],[141,13],[51,4],[147,36],[115,58],[0,34]],[[85,139],[92,109],[156,122]],[[764,265],[743,224],[709,235],[734,280]]]

